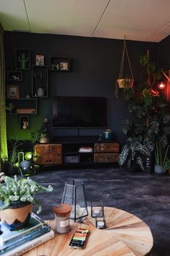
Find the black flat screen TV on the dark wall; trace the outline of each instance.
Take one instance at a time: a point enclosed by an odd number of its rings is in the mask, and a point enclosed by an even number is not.
[[[105,128],[106,113],[104,97],[54,97],[54,127]]]

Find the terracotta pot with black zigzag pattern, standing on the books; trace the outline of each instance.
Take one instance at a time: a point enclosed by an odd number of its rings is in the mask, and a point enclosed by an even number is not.
[[[3,204],[0,202],[0,205]],[[11,230],[19,229],[27,225],[32,210],[33,204],[30,202],[12,202],[9,208],[0,210],[0,218]]]

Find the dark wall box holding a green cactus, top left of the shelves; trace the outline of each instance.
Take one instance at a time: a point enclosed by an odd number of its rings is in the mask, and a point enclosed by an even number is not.
[[[16,50],[16,70],[30,70],[30,51]]]

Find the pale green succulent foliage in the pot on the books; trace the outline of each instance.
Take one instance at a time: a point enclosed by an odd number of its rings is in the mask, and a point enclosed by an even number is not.
[[[4,184],[0,183],[0,200],[4,202],[4,205],[0,207],[0,210],[7,209],[11,202],[31,202],[38,206],[37,213],[42,210],[41,203],[38,202],[33,196],[39,192],[51,192],[53,187],[49,185],[47,188],[39,185],[29,177],[17,179],[17,176],[10,178],[5,176]]]

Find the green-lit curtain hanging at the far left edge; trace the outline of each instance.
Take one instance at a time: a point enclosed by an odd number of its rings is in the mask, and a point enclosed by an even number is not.
[[[6,126],[6,101],[5,101],[4,30],[0,24],[0,159],[1,159],[1,164],[4,162],[5,159],[7,159],[7,157],[8,157],[8,151],[7,151],[7,126]]]

